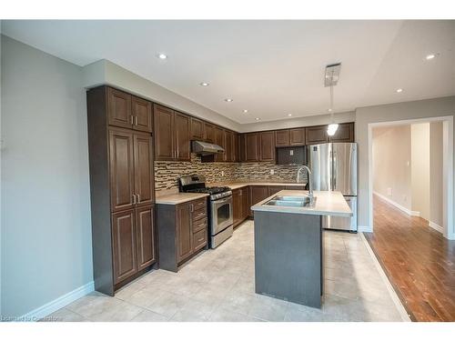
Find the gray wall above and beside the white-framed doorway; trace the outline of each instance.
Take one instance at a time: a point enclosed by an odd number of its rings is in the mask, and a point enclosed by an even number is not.
[[[356,110],[356,139],[359,145],[359,226],[371,227],[369,223],[369,124],[448,115],[455,115],[455,96],[368,106]],[[450,227],[453,229],[453,226]]]

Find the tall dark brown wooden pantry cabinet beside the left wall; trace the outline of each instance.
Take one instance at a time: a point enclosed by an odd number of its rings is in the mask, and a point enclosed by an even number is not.
[[[95,288],[113,296],[157,263],[152,103],[99,86],[87,120]]]

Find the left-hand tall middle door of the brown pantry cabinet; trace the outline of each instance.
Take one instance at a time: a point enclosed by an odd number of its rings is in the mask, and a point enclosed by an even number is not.
[[[133,133],[121,128],[109,129],[109,167],[112,211],[133,208],[134,155]]]

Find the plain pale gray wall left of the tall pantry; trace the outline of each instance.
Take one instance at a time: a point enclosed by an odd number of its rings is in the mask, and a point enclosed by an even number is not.
[[[81,68],[2,36],[2,314],[93,280]]]

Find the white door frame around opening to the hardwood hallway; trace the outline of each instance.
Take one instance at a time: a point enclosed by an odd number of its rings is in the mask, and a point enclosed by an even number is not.
[[[412,125],[416,123],[442,122],[442,165],[443,165],[443,235],[455,240],[454,212],[453,212],[453,116],[440,116],[399,120],[390,122],[369,123],[369,226],[373,226],[373,128],[387,125]]]

